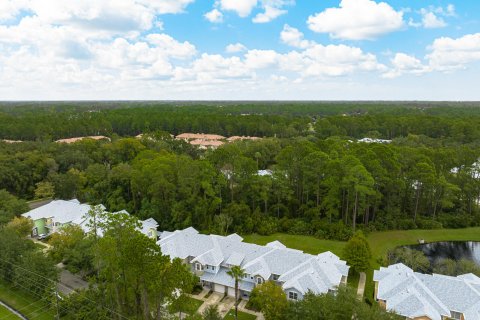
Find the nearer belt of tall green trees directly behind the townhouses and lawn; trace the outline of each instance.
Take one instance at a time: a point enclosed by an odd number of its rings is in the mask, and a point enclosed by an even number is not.
[[[358,228],[477,225],[480,150],[428,142],[312,134],[201,152],[159,132],[112,143],[0,144],[0,185],[25,199],[77,197],[126,209],[162,230],[348,239]]]

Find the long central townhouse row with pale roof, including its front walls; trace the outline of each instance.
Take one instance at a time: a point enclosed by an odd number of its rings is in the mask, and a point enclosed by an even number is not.
[[[232,266],[245,270],[246,275],[239,282],[243,298],[268,280],[280,285],[291,300],[300,300],[309,291],[335,291],[347,282],[349,267],[333,253],[310,255],[278,241],[260,246],[243,242],[237,234],[204,235],[187,228],[163,232],[157,243],[164,254],[190,265],[204,287],[229,296],[235,296],[235,281],[228,275]]]

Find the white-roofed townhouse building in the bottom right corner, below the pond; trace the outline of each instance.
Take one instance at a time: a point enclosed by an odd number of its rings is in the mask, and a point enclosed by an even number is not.
[[[480,278],[414,272],[398,263],[375,270],[375,299],[406,319],[480,319]]]

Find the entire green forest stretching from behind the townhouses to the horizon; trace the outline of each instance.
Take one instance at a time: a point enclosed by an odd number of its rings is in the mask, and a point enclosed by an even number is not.
[[[479,106],[5,104],[0,139],[24,142],[0,142],[0,189],[103,203],[165,230],[344,240],[356,229],[467,227],[480,221]],[[204,151],[170,136],[182,132],[262,139]],[[52,142],[85,135],[112,141]]]

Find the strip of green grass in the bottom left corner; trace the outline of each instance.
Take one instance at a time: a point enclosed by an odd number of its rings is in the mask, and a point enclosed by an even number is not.
[[[54,312],[38,297],[13,289],[3,281],[0,281],[0,300],[20,311],[29,319],[51,320],[55,318]],[[8,319],[16,319],[16,317]]]

